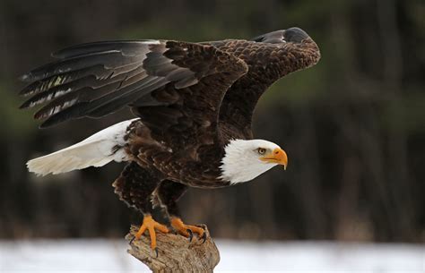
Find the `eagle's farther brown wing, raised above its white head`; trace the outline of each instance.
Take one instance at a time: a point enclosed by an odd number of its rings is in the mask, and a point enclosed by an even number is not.
[[[239,57],[249,67],[221,103],[221,131],[228,138],[252,138],[252,115],[265,90],[286,74],[308,68],[320,59],[317,44],[299,28],[273,31],[250,41],[224,40],[212,45]]]

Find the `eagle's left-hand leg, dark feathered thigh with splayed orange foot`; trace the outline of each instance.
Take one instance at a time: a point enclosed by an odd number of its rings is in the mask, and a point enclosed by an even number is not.
[[[152,192],[160,183],[159,177],[150,170],[132,162],[128,164],[117,180],[112,183],[120,200],[124,200],[129,207],[143,213],[143,224],[134,239],[139,239],[148,230],[151,236],[152,250],[156,251],[155,229],[168,233],[167,226],[161,225],[152,218]],[[157,252],[158,253],[158,252]]]

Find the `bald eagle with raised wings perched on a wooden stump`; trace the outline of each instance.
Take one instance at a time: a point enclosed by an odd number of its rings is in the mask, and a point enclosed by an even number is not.
[[[317,44],[304,30],[277,30],[251,40],[201,43],[175,40],[107,41],[68,47],[56,61],[22,76],[30,96],[21,108],[45,128],[82,117],[100,118],[131,107],[137,118],[108,127],[71,147],[27,163],[37,175],[59,174],[111,161],[128,164],[113,183],[129,207],[143,213],[136,239],[156,231],[152,200],[180,235],[205,239],[186,225],[177,200],[188,187],[218,188],[288,165],[285,151],[253,139],[257,100],[274,81],[317,64]]]

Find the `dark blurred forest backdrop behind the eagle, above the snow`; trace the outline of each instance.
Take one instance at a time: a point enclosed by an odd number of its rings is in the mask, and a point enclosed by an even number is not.
[[[123,164],[36,177],[25,162],[131,115],[39,130],[20,111],[19,75],[50,52],[110,39],[252,38],[298,26],[317,66],[273,85],[255,134],[290,157],[254,182],[192,189],[188,223],[214,237],[425,242],[423,0],[0,2],[0,238],[123,237],[141,216],[111,183]]]

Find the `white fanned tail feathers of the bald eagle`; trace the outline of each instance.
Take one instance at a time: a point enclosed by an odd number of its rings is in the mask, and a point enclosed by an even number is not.
[[[34,158],[28,161],[28,169],[37,175],[56,175],[88,166],[104,166],[113,160],[126,161],[124,149],[117,147],[126,144],[126,129],[133,121],[112,125],[73,146]]]

